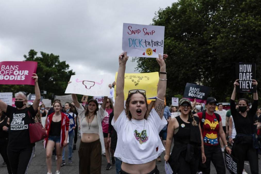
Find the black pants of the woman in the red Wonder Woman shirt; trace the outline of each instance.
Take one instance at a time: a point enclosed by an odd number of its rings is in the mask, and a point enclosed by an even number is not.
[[[206,168],[203,169],[203,173],[210,173],[210,162],[214,164],[217,174],[226,173],[225,162],[223,153],[219,145],[217,146],[206,146],[204,145],[205,156],[206,156]],[[242,172],[241,172],[242,174]]]

